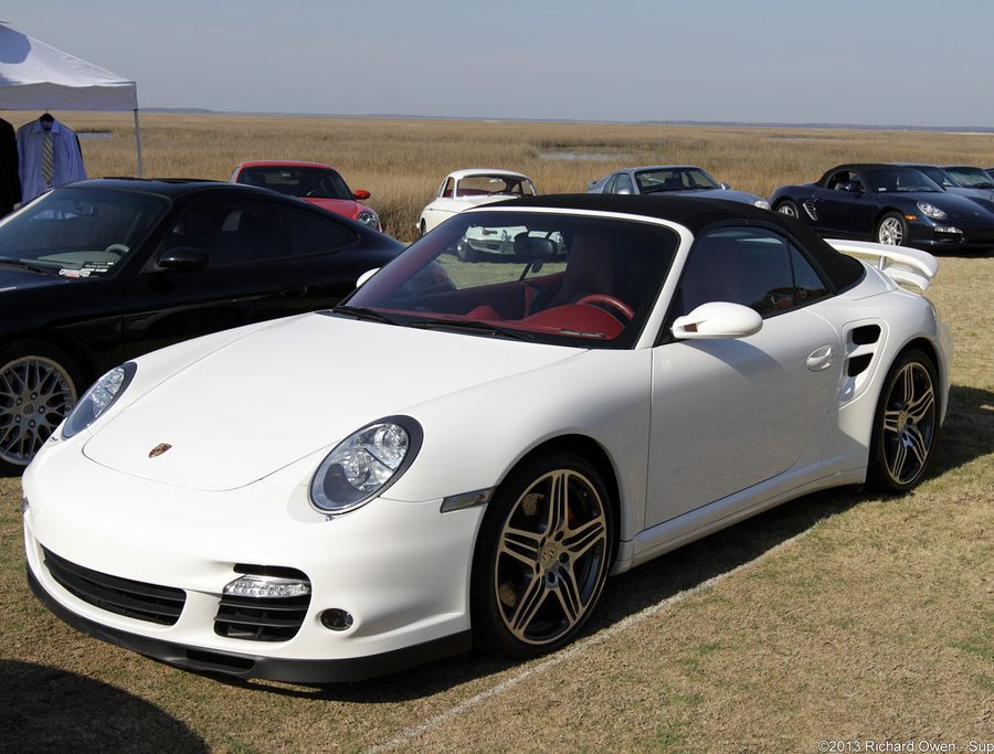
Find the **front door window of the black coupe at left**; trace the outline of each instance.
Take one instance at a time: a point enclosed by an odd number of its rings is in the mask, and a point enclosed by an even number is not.
[[[184,212],[161,249],[192,246],[210,255],[211,267],[281,256],[276,206],[260,201],[207,200]]]

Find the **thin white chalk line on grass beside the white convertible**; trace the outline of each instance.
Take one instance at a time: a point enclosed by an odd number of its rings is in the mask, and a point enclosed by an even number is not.
[[[690,588],[684,590],[683,592],[677,592],[676,594],[670,595],[670,596],[666,597],[665,599],[662,599],[660,602],[657,602],[655,605],[649,605],[648,607],[644,607],[638,613],[635,613],[634,615],[630,615],[628,617],[623,618],[622,620],[618,620],[613,626],[609,626],[607,628],[604,628],[604,629],[598,631],[593,636],[589,636],[588,638],[583,639],[582,641],[578,641],[577,644],[570,645],[569,647],[559,650],[558,652],[556,652],[554,655],[551,655],[548,659],[540,662],[539,665],[532,666],[530,668],[526,668],[525,670],[519,672],[517,676],[514,676],[512,678],[508,678],[506,681],[501,681],[497,686],[494,686],[485,691],[480,691],[475,697],[470,697],[466,701],[459,702],[455,707],[451,707],[447,710],[445,710],[444,712],[440,712],[438,714],[436,714],[433,718],[429,718],[423,723],[420,723],[417,725],[412,725],[411,728],[408,728],[408,729],[401,731],[398,735],[390,739],[389,741],[370,746],[367,750],[367,752],[369,752],[370,754],[378,754],[379,752],[387,752],[392,748],[396,748],[398,746],[401,746],[401,745],[410,742],[412,739],[416,739],[419,735],[422,735],[423,733],[427,733],[430,730],[432,730],[436,725],[444,723],[446,720],[451,720],[452,718],[455,718],[456,715],[459,715],[463,712],[466,712],[467,710],[472,710],[474,707],[478,707],[479,704],[487,701],[491,697],[496,697],[497,694],[504,693],[508,689],[512,689],[514,687],[518,686],[519,683],[521,683],[526,679],[530,678],[531,676],[536,676],[540,672],[544,672],[549,668],[553,668],[557,665],[565,662],[570,658],[575,657],[580,652],[584,651],[588,647],[592,647],[594,645],[603,644],[604,641],[607,641],[609,639],[617,636],[618,634],[631,628],[632,626],[639,624],[643,620],[645,620],[646,618],[654,616],[656,613],[664,609],[665,607],[675,605],[676,603],[681,602],[681,601],[686,599],[687,597],[692,597],[698,592],[704,592],[705,590],[712,587],[715,584],[718,584],[718,583],[725,581],[729,576],[733,576],[737,573],[744,571],[745,569],[749,569],[758,563],[761,563],[762,561],[766,560],[768,557],[771,557],[774,554],[776,554],[778,552],[780,552],[781,550],[785,549],[787,545],[792,544],[800,538],[804,537],[806,533],[807,533],[806,531],[803,531],[800,534],[794,534],[794,537],[792,537],[791,539],[784,540],[780,544],[778,544],[773,548],[770,548],[764,553],[762,553],[758,557],[752,559],[751,561],[747,561],[745,563],[741,563],[741,564],[737,565],[731,571],[726,571],[725,573],[719,573],[717,576],[711,576],[707,581],[702,581],[697,586],[691,586]]]

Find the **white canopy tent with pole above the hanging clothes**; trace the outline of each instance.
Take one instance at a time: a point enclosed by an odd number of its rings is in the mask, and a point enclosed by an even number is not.
[[[141,128],[138,86],[133,81],[39,42],[0,22],[0,109],[131,110],[138,176]]]

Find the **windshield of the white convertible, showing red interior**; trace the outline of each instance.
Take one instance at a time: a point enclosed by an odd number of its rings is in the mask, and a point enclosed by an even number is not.
[[[412,244],[335,314],[472,336],[631,348],[678,244],[670,229],[633,221],[464,212]]]

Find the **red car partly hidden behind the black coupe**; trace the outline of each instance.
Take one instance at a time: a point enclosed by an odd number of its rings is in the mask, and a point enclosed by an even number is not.
[[[359,200],[369,199],[369,191],[366,189],[352,191],[335,168],[320,162],[295,160],[242,162],[231,174],[231,182],[261,185],[289,197],[300,197],[304,201],[336,214],[378,231],[383,230],[373,209],[359,203]]]

